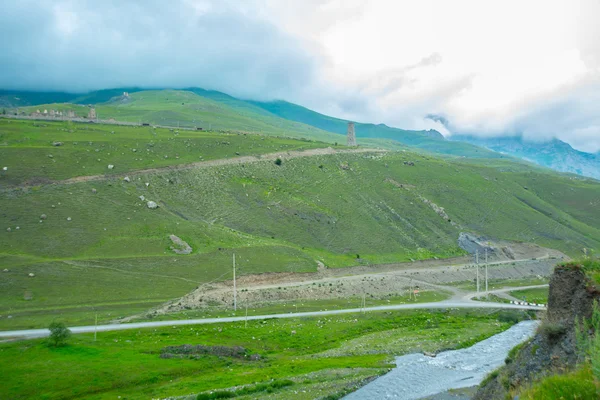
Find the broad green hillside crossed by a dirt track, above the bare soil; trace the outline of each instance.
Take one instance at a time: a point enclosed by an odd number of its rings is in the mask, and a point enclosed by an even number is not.
[[[463,231],[600,248],[597,181],[507,160],[3,119],[0,136],[3,328],[140,312],[230,279],[233,253],[244,275],[451,257]]]

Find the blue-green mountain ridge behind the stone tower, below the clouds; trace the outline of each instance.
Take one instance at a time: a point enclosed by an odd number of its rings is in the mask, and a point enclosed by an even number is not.
[[[123,98],[123,92],[129,96]],[[87,94],[56,93],[43,96],[19,92],[0,96],[8,102],[15,97],[27,99],[19,107],[32,112],[36,108],[73,110],[87,115],[83,105],[95,104],[99,118],[156,125],[201,127],[212,130],[235,130],[292,138],[346,143],[348,121],[329,117],[284,101],[261,103],[229,96],[225,93],[189,88],[187,90],[141,90],[119,88]],[[7,100],[8,99],[8,100]],[[40,101],[48,101],[41,103]],[[25,105],[36,106],[27,108]],[[383,124],[356,123],[359,145],[391,150],[412,148],[421,152],[470,158],[505,158],[500,154],[469,143],[452,142],[434,130],[410,131]]]

